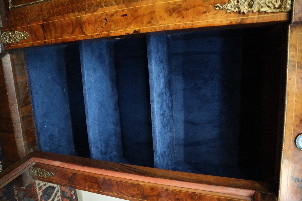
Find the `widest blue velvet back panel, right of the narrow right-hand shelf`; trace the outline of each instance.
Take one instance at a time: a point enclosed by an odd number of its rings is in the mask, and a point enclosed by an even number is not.
[[[202,174],[238,173],[241,41],[238,30],[171,36],[176,160]]]

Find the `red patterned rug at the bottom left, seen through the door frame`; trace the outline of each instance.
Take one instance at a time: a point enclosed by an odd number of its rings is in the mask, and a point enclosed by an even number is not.
[[[6,185],[0,189],[1,201],[78,201],[76,190],[69,187],[35,181],[26,188]]]

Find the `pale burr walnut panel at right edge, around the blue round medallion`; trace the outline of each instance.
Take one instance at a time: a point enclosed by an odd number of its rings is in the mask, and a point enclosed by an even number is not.
[[[284,144],[281,157],[280,201],[302,200],[302,151],[295,137],[302,132],[302,25],[291,25],[285,110]]]

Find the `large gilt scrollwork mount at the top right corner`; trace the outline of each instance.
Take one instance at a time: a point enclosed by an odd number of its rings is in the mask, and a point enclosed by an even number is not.
[[[230,0],[229,3],[215,5],[216,10],[226,10],[227,13],[240,12],[288,12],[291,10],[291,0]]]

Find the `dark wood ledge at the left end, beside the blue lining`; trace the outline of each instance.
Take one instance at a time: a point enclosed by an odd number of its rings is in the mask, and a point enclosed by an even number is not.
[[[23,53],[14,51],[5,55],[2,67],[13,130],[10,130],[10,135],[2,136],[1,140],[4,139],[4,146],[16,144],[16,147],[3,149],[9,152],[10,157],[14,157],[11,160],[18,161],[18,157],[38,149]]]

